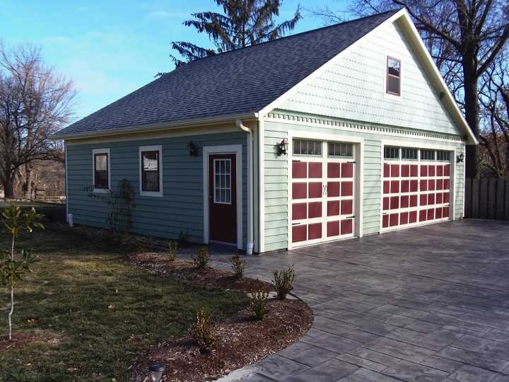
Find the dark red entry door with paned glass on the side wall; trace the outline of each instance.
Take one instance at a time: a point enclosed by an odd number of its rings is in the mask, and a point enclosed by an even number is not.
[[[210,240],[237,243],[237,167],[235,154],[209,156]]]

